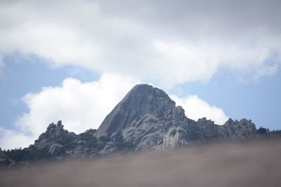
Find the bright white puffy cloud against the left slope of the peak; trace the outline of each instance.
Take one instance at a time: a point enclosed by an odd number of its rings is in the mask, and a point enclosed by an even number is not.
[[[76,133],[98,128],[136,83],[140,82],[126,76],[104,74],[98,81],[81,83],[77,79],[66,78],[61,86],[28,93],[22,100],[29,112],[16,121],[18,131],[0,130],[0,147],[28,146],[46,131],[48,124],[58,120],[63,120],[65,129]]]

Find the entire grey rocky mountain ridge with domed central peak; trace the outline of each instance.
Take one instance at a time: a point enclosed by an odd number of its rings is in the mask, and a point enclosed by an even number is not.
[[[141,84],[127,93],[98,130],[74,134],[64,130],[58,121],[56,125],[48,125],[33,145],[5,151],[5,155],[15,162],[92,158],[128,151],[174,149],[212,139],[253,139],[258,134],[251,120],[229,119],[224,125],[216,125],[206,118],[191,120],[163,90]],[[7,159],[6,164],[9,164]]]

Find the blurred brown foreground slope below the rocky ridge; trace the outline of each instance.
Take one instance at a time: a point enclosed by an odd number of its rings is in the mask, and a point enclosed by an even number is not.
[[[0,186],[281,186],[281,139],[189,146],[0,171]]]

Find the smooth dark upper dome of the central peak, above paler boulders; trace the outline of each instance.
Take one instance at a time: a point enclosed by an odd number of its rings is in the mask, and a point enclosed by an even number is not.
[[[159,88],[152,85],[139,84],[134,86],[117,106],[107,115],[98,128],[98,136],[111,134],[117,130],[131,127],[133,121],[150,114],[157,118],[171,119],[174,116],[184,116],[181,107]]]

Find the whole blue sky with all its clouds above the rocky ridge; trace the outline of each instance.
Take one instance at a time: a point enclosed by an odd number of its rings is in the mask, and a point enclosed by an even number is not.
[[[138,83],[281,129],[281,1],[0,1],[0,147],[98,128]]]

